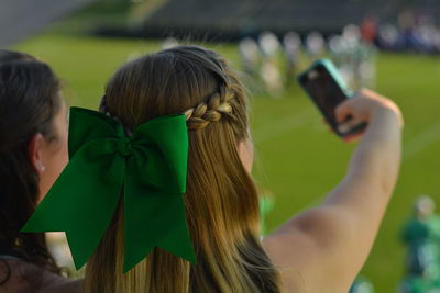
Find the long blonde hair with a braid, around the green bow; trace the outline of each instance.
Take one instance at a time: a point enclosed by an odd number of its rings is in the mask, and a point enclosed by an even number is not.
[[[280,292],[260,241],[257,192],[237,149],[249,138],[246,101],[227,61],[196,46],[141,57],[109,80],[102,109],[128,129],[156,116],[187,115],[184,201],[198,264],[155,248],[123,274],[121,202],[87,264],[85,292]]]

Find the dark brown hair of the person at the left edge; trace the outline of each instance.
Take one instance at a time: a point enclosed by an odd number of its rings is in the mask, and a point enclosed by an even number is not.
[[[0,248],[55,273],[59,269],[44,233],[20,229],[40,198],[29,142],[36,133],[47,140],[57,138],[54,116],[61,106],[59,81],[48,65],[26,54],[0,50]],[[8,279],[7,273],[0,284]]]

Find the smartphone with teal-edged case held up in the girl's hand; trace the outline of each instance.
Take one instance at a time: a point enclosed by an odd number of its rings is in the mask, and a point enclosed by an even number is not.
[[[298,76],[298,83],[318,106],[327,123],[341,137],[362,132],[366,123],[361,123],[348,132],[338,129],[334,110],[337,106],[353,97],[333,63],[329,59],[315,61],[309,69]],[[348,117],[350,120],[351,117]]]

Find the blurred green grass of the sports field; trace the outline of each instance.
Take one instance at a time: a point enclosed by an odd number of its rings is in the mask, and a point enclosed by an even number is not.
[[[209,46],[237,66],[233,45]],[[70,105],[96,109],[110,75],[128,58],[160,49],[160,43],[42,35],[16,46],[48,61],[65,81]],[[395,292],[403,275],[404,248],[398,235],[414,199],[440,195],[440,59],[382,54],[377,90],[402,108],[406,127],[400,178],[363,274],[376,292]],[[353,145],[343,144],[296,87],[283,99],[252,97],[251,120],[257,149],[255,178],[272,191],[275,209],[267,226],[275,228],[322,200],[344,176]]]

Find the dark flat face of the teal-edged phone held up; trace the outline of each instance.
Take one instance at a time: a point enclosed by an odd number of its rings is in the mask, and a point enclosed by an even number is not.
[[[334,109],[348,97],[330,72],[324,66],[318,65],[302,76],[301,83],[312,97],[328,123],[336,126]]]

